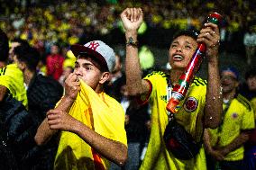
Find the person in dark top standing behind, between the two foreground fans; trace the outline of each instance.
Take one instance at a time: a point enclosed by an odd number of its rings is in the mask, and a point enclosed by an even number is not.
[[[125,80],[123,80],[125,81]],[[120,89],[120,103],[125,112],[125,130],[128,142],[128,161],[125,166],[112,165],[110,170],[133,170],[141,165],[142,149],[146,146],[150,135],[150,105],[138,104],[128,95],[127,85],[123,82]],[[115,93],[116,94],[116,93]]]

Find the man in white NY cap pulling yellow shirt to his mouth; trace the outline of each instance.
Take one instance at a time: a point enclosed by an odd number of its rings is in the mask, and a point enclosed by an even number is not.
[[[54,169],[108,169],[109,161],[123,166],[127,159],[123,108],[103,91],[114,68],[114,50],[100,40],[73,45],[71,50],[77,57],[74,73],[35,140],[42,145],[61,130]]]

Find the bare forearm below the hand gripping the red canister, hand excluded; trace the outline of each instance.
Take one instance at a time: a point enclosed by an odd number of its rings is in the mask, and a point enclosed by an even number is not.
[[[223,95],[220,83],[218,58],[208,62],[208,83],[206,90],[205,128],[215,129],[223,111]]]

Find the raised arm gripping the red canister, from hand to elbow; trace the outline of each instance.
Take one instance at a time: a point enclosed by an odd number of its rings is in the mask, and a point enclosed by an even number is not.
[[[206,44],[206,58],[208,61],[208,78],[205,106],[205,128],[215,129],[221,121],[223,112],[223,95],[219,74],[219,40],[220,33],[217,25],[206,23],[200,31],[197,41]]]

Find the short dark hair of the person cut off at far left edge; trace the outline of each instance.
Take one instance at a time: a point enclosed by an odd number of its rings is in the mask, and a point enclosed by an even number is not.
[[[9,41],[4,31],[0,29],[0,61],[7,61],[9,57]]]

